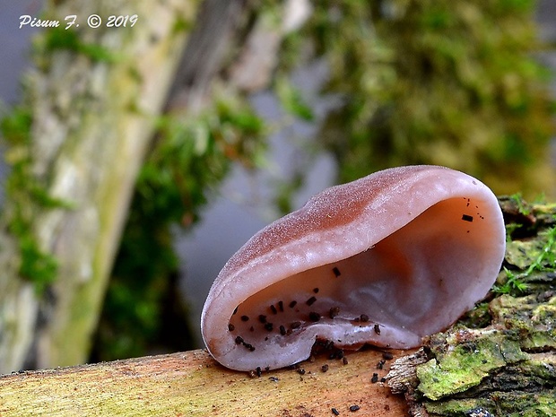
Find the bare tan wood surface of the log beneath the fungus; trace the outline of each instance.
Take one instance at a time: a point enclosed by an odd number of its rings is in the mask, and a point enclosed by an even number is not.
[[[407,352],[392,353],[388,361],[375,350],[347,353],[347,364],[322,354],[260,377],[225,369],[205,351],[13,373],[0,377],[0,415],[294,417],[334,416],[335,408],[339,415],[399,417],[407,415],[403,396],[380,382]]]

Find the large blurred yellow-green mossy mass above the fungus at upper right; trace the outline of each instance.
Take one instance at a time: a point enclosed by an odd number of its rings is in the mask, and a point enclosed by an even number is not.
[[[534,2],[323,1],[305,30],[344,104],[319,140],[341,181],[403,164],[434,163],[482,178],[498,194],[553,192],[548,72]],[[304,50],[307,50],[305,48]],[[286,63],[289,65],[289,63]]]

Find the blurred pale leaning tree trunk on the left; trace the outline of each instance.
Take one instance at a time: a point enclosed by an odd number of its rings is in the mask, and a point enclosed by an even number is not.
[[[24,363],[44,368],[86,360],[135,178],[197,3],[48,5],[45,16],[62,27],[65,16],[77,15],[79,27],[60,33],[74,32],[79,44],[40,47],[39,71],[28,88],[31,169],[49,195],[72,208],[42,207],[32,216],[39,248],[59,265],[43,295],[18,276],[16,239],[4,231],[0,236],[0,372]],[[92,13],[103,20],[98,29],[87,26]],[[133,27],[106,26],[109,15],[134,14]],[[5,203],[8,217],[11,204]]]

